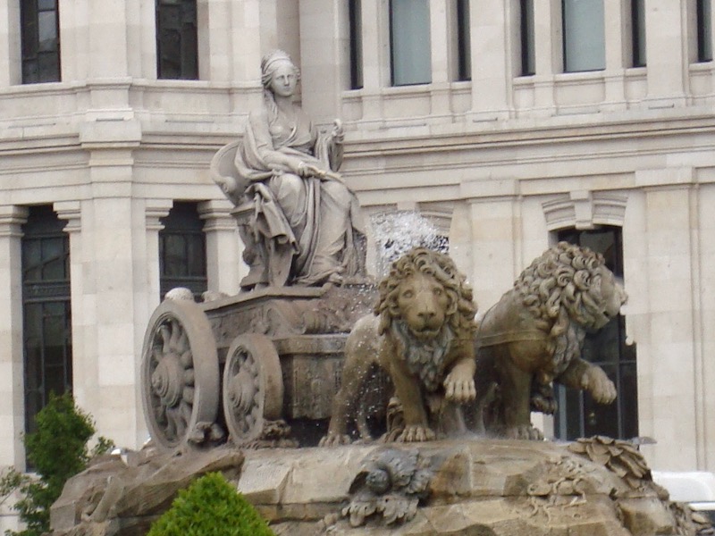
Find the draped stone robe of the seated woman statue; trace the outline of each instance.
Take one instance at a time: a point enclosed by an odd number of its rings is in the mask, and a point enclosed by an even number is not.
[[[236,169],[248,180],[255,203],[254,231],[265,244],[268,282],[314,285],[333,273],[365,273],[365,230],[357,197],[340,181],[300,178],[271,152],[324,171],[337,171],[342,148],[318,134],[307,114],[293,106],[294,117],[266,107],[250,114],[236,152]]]

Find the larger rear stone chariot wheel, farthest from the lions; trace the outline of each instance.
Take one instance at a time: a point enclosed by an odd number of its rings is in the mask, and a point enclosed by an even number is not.
[[[192,301],[164,300],[149,320],[141,362],[144,418],[157,447],[203,440],[201,429],[216,420],[219,379],[206,314]]]

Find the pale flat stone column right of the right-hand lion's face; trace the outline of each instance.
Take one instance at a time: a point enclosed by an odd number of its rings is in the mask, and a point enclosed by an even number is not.
[[[638,344],[639,414],[644,423],[641,433],[658,441],[646,451],[652,467],[686,471],[700,465],[698,428],[702,423],[699,383],[694,340],[694,279],[692,219],[694,217],[690,182],[692,169],[663,169],[636,172],[636,181],[644,185],[642,215],[644,234],[640,240],[643,258],[638,261],[637,276],[626,281],[645,280],[638,287],[645,297],[634,295],[633,322]],[[682,182],[671,186],[669,183]],[[624,232],[624,250],[630,233]],[[629,264],[626,265],[629,267]],[[634,267],[633,262],[630,267]],[[635,281],[634,281],[635,282]],[[628,305],[627,314],[632,309]],[[641,344],[643,341],[644,344]],[[643,407],[640,406],[643,402]],[[693,418],[684,418],[685,415]],[[650,456],[652,454],[652,456]]]

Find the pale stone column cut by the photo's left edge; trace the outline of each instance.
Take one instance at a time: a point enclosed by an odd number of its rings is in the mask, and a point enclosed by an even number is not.
[[[23,470],[25,449],[25,393],[22,349],[21,226],[28,210],[0,205],[0,429],[8,440],[0,443],[0,468]]]

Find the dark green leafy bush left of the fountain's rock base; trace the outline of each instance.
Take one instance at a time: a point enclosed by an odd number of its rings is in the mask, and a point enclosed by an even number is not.
[[[26,525],[21,532],[6,531],[11,536],[39,536],[50,530],[50,507],[62,494],[64,482],[80,473],[91,456],[114,447],[99,438],[90,453],[87,441],[95,433],[91,417],[75,406],[71,394],[50,395],[47,405],[35,417],[37,431],[24,437],[28,462],[37,476],[11,470],[0,479],[0,495],[20,492],[13,509]]]

